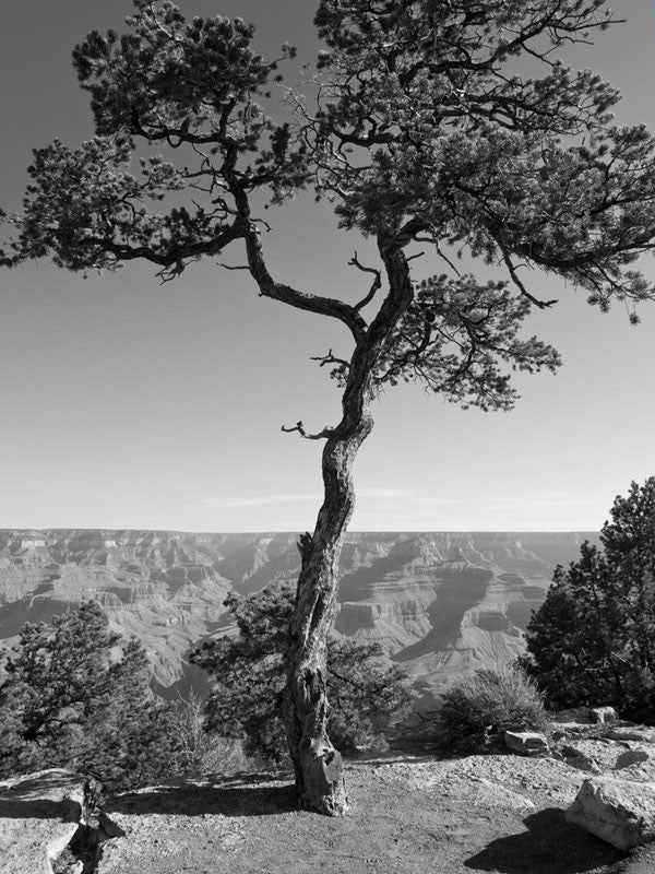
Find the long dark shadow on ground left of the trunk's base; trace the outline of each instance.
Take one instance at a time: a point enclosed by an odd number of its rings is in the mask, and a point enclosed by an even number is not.
[[[126,792],[110,799],[106,812],[140,816],[167,814],[169,816],[265,816],[288,813],[298,808],[293,783],[276,786],[269,778],[229,780],[219,784],[178,783]]]

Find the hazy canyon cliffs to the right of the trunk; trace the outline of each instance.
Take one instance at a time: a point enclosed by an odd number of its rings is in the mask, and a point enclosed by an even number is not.
[[[377,640],[428,707],[450,677],[522,654],[523,631],[555,566],[574,560],[585,538],[598,540],[577,533],[353,538],[348,552],[357,562],[342,578],[336,629]]]

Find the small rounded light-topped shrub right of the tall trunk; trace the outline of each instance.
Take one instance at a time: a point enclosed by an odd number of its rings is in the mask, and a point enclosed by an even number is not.
[[[481,749],[503,731],[543,731],[548,724],[536,685],[513,665],[476,671],[440,698],[441,740],[461,751]]]

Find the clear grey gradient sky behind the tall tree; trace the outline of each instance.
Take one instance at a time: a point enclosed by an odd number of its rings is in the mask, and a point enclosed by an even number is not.
[[[180,5],[189,16],[253,21],[267,56],[285,40],[301,61],[318,48],[307,0]],[[3,0],[5,210],[20,206],[32,147],[93,135],[70,52],[91,29],[120,29],[130,9]],[[655,129],[653,2],[612,9],[628,23],[568,59],[621,88],[620,122]],[[361,296],[366,277],[347,261],[370,245],[336,229],[329,208],[305,197],[272,218],[276,279]],[[238,263],[239,252],[224,260]],[[644,269],[655,281],[655,263]],[[302,420],[320,430],[338,420],[337,389],[310,357],[346,352],[345,331],[258,297],[245,273],[212,261],[165,285],[154,273],[130,264],[84,281],[47,261],[0,270],[0,527],[311,529],[321,444],[281,426]],[[562,354],[557,376],[522,376],[510,413],[391,389],[356,462],[353,530],[592,531],[631,481],[655,475],[655,303],[635,328],[620,306],[603,315],[560,280],[535,274],[531,288],[560,302],[528,326]]]

